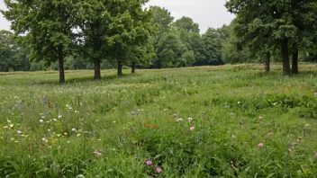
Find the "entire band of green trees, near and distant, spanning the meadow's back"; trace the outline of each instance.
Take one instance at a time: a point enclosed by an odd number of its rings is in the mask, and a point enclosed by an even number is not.
[[[135,68],[263,62],[268,71],[271,61],[284,61],[285,66],[285,51],[279,49],[285,37],[291,51],[288,57],[294,54],[297,63],[316,61],[312,4],[293,4],[312,13],[303,17],[294,13],[298,21],[292,20],[292,26],[286,22],[289,15],[279,12],[283,9],[274,11],[278,3],[258,3],[250,8],[249,4],[229,1],[226,6],[237,14],[236,19],[201,34],[191,18],[175,20],[159,6],[144,9],[146,2],[5,1],[9,10],[2,13],[12,22],[14,34],[1,31],[0,70],[56,69],[60,83],[65,82],[64,69],[94,69],[95,79],[101,78],[101,69],[113,67],[122,75],[123,67],[135,72]],[[274,19],[276,13],[279,19]]]

